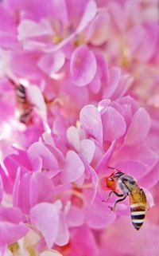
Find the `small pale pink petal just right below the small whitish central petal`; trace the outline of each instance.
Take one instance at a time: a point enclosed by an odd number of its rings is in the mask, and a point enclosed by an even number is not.
[[[87,164],[90,164],[95,154],[95,143],[92,140],[80,141],[80,156]]]

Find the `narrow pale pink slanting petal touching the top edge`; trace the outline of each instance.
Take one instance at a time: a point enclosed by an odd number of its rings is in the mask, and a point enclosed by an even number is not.
[[[97,11],[97,6],[95,1],[91,0],[87,2],[87,6],[85,7],[80,24],[76,29],[76,33],[80,33],[82,30],[85,29],[87,24],[91,22],[91,20],[95,17],[96,11]]]

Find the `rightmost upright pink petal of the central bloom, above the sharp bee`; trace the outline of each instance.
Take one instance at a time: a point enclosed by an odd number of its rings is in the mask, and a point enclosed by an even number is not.
[[[150,118],[144,108],[138,108],[127,131],[124,144],[140,144],[149,133]]]

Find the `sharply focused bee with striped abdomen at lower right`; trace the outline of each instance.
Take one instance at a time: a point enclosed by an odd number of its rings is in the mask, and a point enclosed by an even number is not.
[[[121,197],[121,199],[115,201],[111,210],[114,211],[117,203],[122,202],[129,196],[131,221],[134,228],[139,230],[144,223],[145,211],[147,208],[145,192],[138,186],[132,176],[126,175],[124,172],[118,171],[115,168],[109,168],[114,169],[114,173],[107,178],[107,187],[111,189],[108,199],[112,193]],[[107,202],[107,200],[105,202]]]

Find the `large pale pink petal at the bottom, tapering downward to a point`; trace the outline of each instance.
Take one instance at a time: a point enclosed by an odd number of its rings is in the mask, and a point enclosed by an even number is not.
[[[39,203],[30,211],[30,220],[45,238],[48,248],[52,248],[59,227],[59,215],[56,206],[51,203]]]

